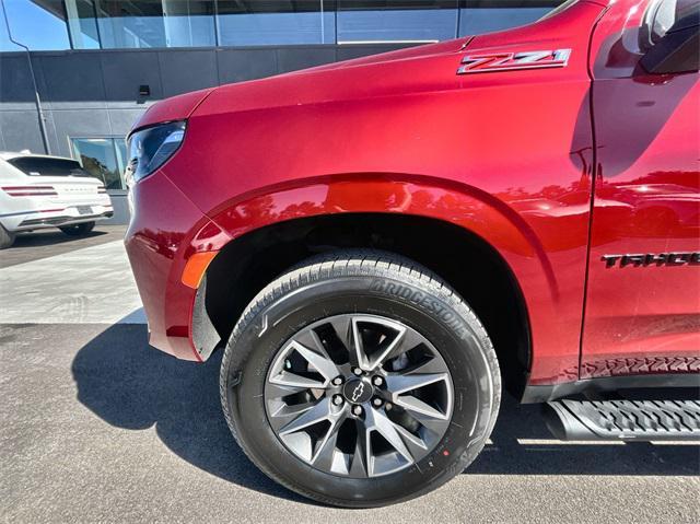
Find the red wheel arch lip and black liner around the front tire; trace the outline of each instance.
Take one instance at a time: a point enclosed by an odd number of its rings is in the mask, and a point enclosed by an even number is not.
[[[491,199],[476,189],[467,194],[380,177],[283,188],[220,209],[213,221],[232,240],[221,246],[197,291],[196,350],[206,359],[228,340],[250,300],[289,267],[325,251],[372,247],[412,258],[450,282],[485,323],[504,382],[518,393],[533,343],[515,267],[552,288],[536,236],[508,206]]]

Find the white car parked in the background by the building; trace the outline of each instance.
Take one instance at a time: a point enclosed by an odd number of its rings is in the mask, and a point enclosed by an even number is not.
[[[103,182],[78,161],[0,152],[0,249],[21,231],[58,228],[82,235],[113,213]]]

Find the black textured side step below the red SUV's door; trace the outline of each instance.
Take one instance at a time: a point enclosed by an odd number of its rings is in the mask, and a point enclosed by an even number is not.
[[[700,400],[555,400],[547,427],[560,440],[700,440]]]

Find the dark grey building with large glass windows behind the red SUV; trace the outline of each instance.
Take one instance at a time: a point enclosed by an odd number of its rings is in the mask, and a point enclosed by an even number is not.
[[[0,0],[0,151],[71,156],[128,220],[125,135],[198,89],[498,31],[562,0]]]

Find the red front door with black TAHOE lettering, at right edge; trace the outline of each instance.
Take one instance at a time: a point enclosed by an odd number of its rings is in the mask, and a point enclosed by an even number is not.
[[[649,2],[639,3],[643,15]],[[582,379],[700,371],[699,75],[643,72],[643,20],[625,5],[594,35],[597,174]]]

